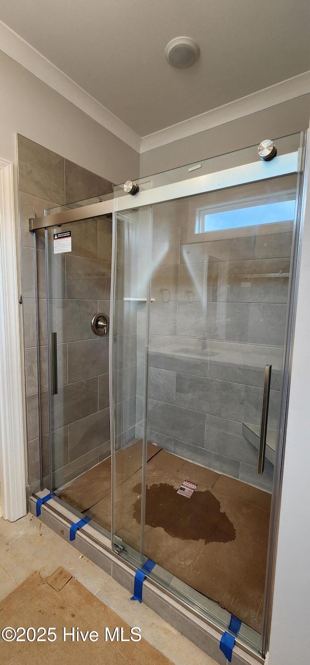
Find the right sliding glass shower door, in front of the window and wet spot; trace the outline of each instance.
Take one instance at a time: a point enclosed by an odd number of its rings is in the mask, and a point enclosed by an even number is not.
[[[251,180],[249,167],[242,182],[237,166],[236,176],[229,170],[234,186],[203,192],[196,178],[191,196],[187,182],[165,187],[157,176],[153,194],[151,179],[142,182],[137,207],[116,213],[119,225],[131,215],[137,229],[141,219],[143,242],[136,233],[128,245],[135,247],[137,281],[124,285],[127,299],[139,285],[143,293],[125,315],[136,334],[132,424],[141,469],[139,481],[121,481],[116,515],[125,524],[116,523],[114,543],[119,537],[118,551],[137,565],[151,559],[154,579],[222,628],[236,616],[242,640],[257,652],[280,427],[293,171]]]

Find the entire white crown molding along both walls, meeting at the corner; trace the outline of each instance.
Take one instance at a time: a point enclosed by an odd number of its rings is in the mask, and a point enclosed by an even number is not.
[[[226,122],[232,122],[232,120],[238,120],[310,92],[310,71],[303,72],[303,74],[288,78],[269,88],[258,90],[246,97],[224,104],[224,106],[212,108],[210,111],[141,138],[3,21],[0,21],[0,45],[0,51],[5,55],[139,153],[161,148],[174,141],[204,132]]]

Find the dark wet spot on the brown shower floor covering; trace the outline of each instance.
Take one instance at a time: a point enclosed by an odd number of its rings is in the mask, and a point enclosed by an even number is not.
[[[141,483],[133,487],[141,491]],[[133,505],[133,517],[140,523],[141,501]],[[226,513],[220,511],[220,501],[210,490],[197,491],[187,499],[168,483],[147,486],[145,524],[161,527],[166,533],[182,540],[204,543],[228,543],[236,538],[236,529]]]

